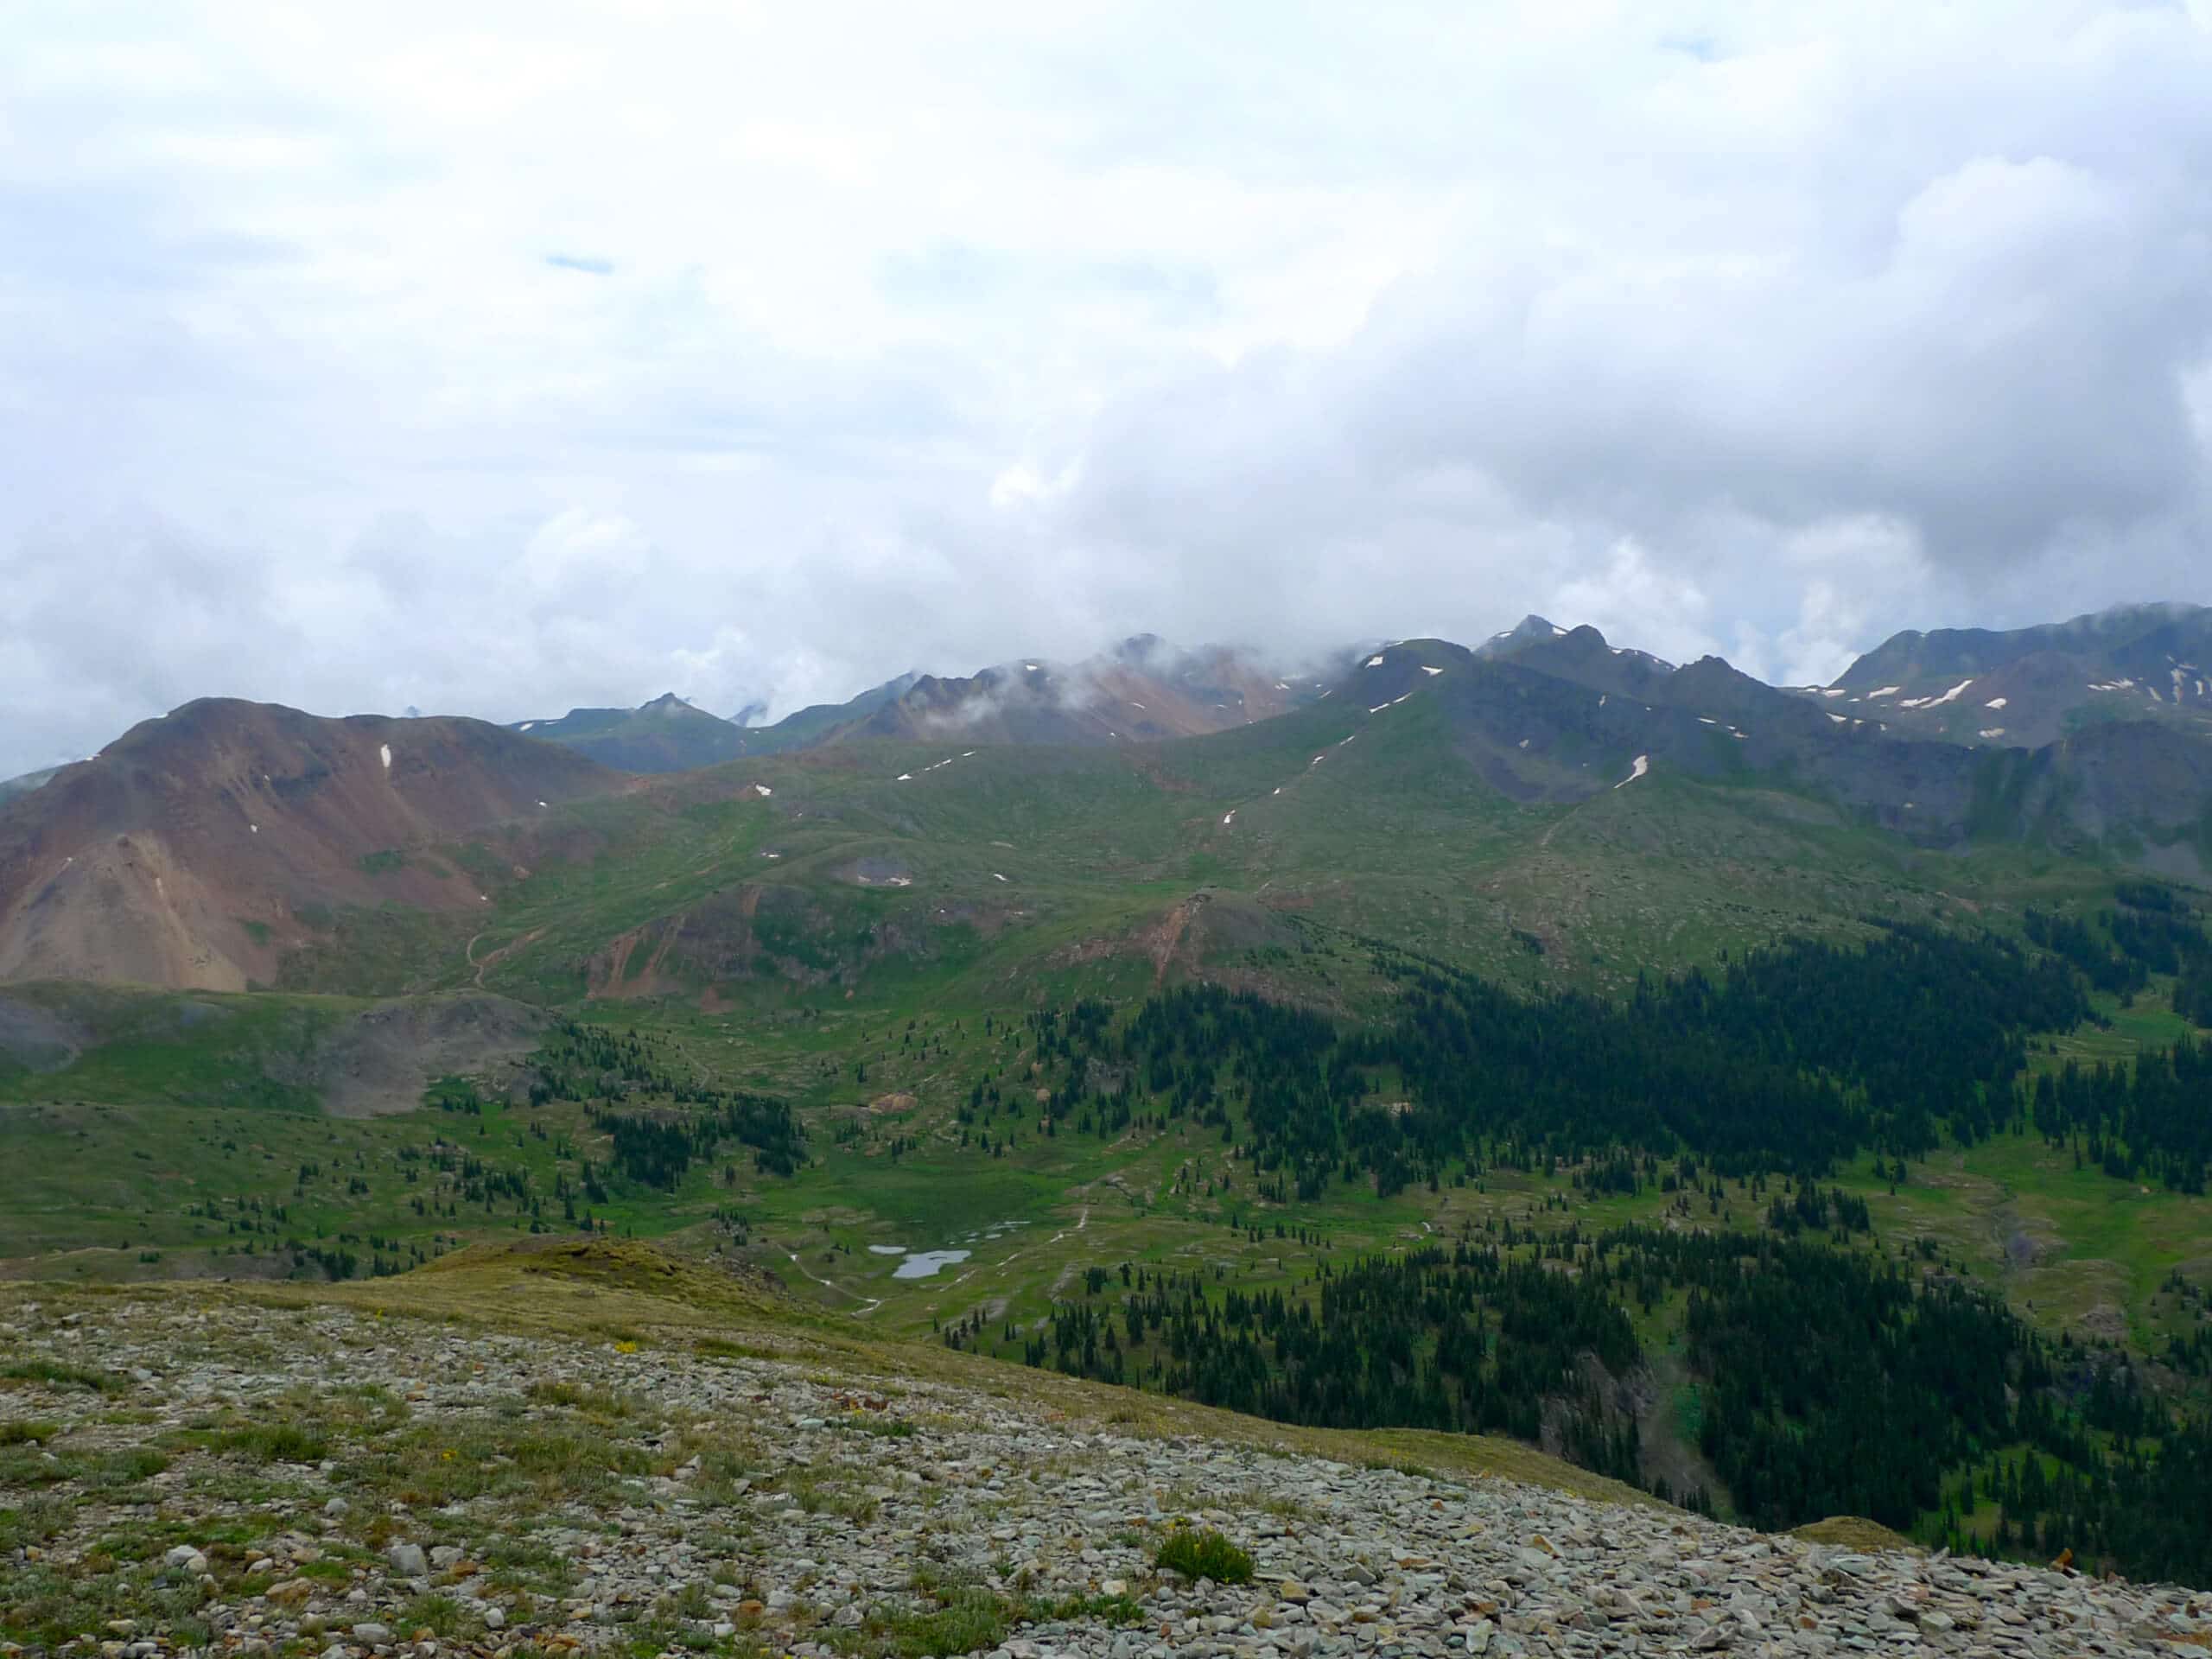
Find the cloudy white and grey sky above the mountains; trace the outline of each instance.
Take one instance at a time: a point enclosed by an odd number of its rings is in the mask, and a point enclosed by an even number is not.
[[[2212,0],[0,9],[0,776],[2212,599]]]

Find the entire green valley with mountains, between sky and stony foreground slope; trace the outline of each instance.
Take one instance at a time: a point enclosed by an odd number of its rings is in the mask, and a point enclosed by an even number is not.
[[[2130,1517],[2212,1491],[2212,737],[1944,712],[2185,622],[1133,641],[708,765],[783,728],[190,703],[0,803],[0,1276],[358,1318],[588,1239],[973,1387],[2208,1584]]]

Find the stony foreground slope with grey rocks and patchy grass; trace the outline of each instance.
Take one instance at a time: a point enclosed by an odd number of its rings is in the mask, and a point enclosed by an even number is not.
[[[1141,1438],[942,1383],[849,1387],[714,1343],[526,1340],[197,1301],[0,1312],[7,1652],[2212,1644],[2203,1593]],[[1243,1546],[1252,1579],[1157,1568],[1179,1524]]]

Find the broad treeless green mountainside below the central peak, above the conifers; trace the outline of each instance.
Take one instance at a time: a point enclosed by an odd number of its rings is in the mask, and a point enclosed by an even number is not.
[[[1666,770],[1515,803],[1453,743],[1447,703],[1416,690],[1383,714],[1318,703],[1152,750],[852,743],[743,761],[440,849],[484,891],[480,914],[345,911],[283,984],[987,1002],[1073,960],[1194,967],[1239,940],[1287,945],[1301,920],[1502,980],[1619,991],[1639,969],[1854,936],[1869,916],[2002,925],[2104,880],[2002,838],[1920,849],[1767,774]],[[1630,757],[1586,759],[1626,776]],[[1225,940],[1183,938],[1194,894],[1243,907]]]

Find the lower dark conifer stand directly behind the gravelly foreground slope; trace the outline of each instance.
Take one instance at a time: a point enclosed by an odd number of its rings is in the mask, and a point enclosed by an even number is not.
[[[1703,1396],[1697,1449],[1743,1520],[1867,1515],[1953,1548],[2070,1548],[2132,1577],[2212,1584],[2205,1425],[2174,1422],[2121,1356],[2053,1345],[1964,1281],[1871,1250],[1506,1230],[1323,1261],[1292,1292],[1148,1270],[1124,1270],[1117,1292],[1093,1272],[1048,1329],[1004,1327],[993,1343],[973,1321],[947,1340],[1281,1422],[1542,1440],[1637,1482],[1628,1402],[1648,1356],[1628,1307],[1670,1296],[1686,1298]],[[1982,1537],[1962,1526],[1960,1493],[1993,1482],[2004,1509]]]

